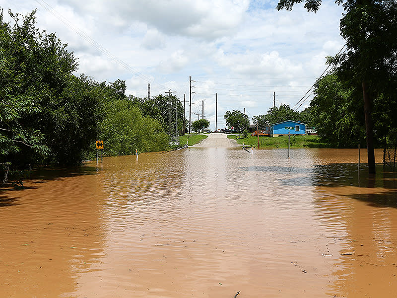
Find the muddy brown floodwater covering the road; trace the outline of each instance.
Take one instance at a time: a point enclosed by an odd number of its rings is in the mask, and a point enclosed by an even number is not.
[[[396,176],[359,178],[353,149],[286,157],[189,148],[38,172],[0,193],[0,297],[396,297]]]

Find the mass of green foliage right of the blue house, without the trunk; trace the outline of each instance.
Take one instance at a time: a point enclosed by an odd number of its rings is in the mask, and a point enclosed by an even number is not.
[[[301,2],[305,2],[308,11],[317,11],[322,1],[279,0],[277,9],[291,10]],[[397,127],[397,0],[336,0],[335,3],[343,3],[345,10],[340,32],[347,51],[328,58],[328,63],[336,67],[335,76],[323,78],[317,86],[312,103],[313,121],[320,125],[322,137],[332,144],[351,146],[361,142],[364,137],[362,85],[365,84],[372,105],[367,124],[370,128],[373,122],[374,140],[384,144]],[[341,89],[326,90],[327,85]],[[334,130],[327,128],[331,123]],[[367,133],[370,142],[371,128]]]

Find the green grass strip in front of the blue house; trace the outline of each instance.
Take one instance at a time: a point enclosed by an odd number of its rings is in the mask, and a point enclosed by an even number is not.
[[[227,136],[229,139],[236,140],[233,135]],[[236,140],[238,144],[258,147],[258,137],[248,135],[247,138]],[[288,148],[288,136],[280,137],[259,137],[260,148]],[[291,136],[290,148],[329,148],[326,143],[322,143],[318,136]]]

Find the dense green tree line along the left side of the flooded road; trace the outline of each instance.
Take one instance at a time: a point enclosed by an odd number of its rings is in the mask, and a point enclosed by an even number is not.
[[[73,165],[91,159],[95,140],[105,141],[107,154],[132,154],[135,149],[169,148],[169,123],[175,127],[177,122],[177,130],[183,131],[184,111],[178,98],[161,94],[136,98],[125,94],[123,80],[98,82],[85,74],[73,75],[77,58],[54,33],[36,28],[35,11],[25,16],[8,13],[10,23],[0,12],[4,180],[7,174],[34,165]]]

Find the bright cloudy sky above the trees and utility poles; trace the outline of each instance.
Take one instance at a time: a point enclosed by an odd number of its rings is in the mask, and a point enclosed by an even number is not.
[[[275,105],[294,107],[343,47],[343,8],[323,0],[317,13],[276,0],[0,0],[4,14],[37,9],[37,27],[55,32],[78,58],[76,75],[126,81],[126,94],[171,89],[189,101],[192,121],[224,128],[226,111],[250,120]],[[310,94],[310,92],[309,92]],[[295,109],[308,107],[313,94]],[[303,101],[303,100],[302,100]],[[301,101],[301,102],[302,102]],[[189,105],[186,104],[189,119]],[[252,122],[252,120],[251,120]]]

